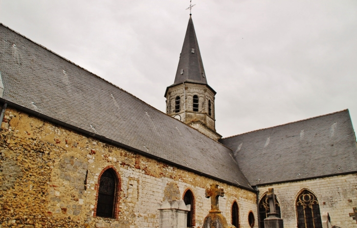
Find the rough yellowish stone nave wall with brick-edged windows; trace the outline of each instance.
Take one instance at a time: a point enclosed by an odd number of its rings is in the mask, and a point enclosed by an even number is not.
[[[2,227],[158,227],[164,199],[194,194],[195,227],[210,209],[209,178],[157,161],[51,122],[7,108],[0,132]],[[106,168],[118,175],[117,219],[95,217],[98,179]],[[223,182],[220,208],[231,221],[237,201],[241,228],[257,218],[256,194]],[[257,221],[255,228],[258,227]]]

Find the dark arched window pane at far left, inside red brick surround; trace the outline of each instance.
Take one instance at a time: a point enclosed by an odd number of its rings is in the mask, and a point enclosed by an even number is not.
[[[117,178],[113,169],[109,168],[100,177],[98,200],[95,216],[114,218]]]

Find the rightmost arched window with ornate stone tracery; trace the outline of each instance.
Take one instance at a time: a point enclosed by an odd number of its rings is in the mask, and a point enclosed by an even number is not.
[[[309,190],[300,193],[296,200],[297,227],[322,228],[320,206]]]

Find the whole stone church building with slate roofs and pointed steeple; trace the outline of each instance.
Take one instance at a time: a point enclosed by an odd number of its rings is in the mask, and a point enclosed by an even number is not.
[[[201,228],[218,184],[236,228],[264,228],[269,188],[285,228],[354,228],[349,111],[222,138],[207,76],[191,16],[166,114],[0,24],[0,226],[158,228],[182,201]]]

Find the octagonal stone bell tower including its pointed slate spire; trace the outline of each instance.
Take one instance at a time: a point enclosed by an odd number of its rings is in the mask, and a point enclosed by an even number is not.
[[[166,88],[166,114],[218,140],[215,127],[215,95],[204,72],[192,17],[188,20],[175,82]]]

